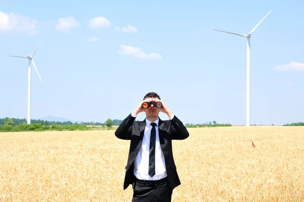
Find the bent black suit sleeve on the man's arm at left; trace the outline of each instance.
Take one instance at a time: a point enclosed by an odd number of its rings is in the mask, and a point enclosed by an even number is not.
[[[131,114],[123,120],[123,122],[118,126],[115,131],[115,136],[122,140],[131,140],[133,122],[135,121],[135,117]]]

